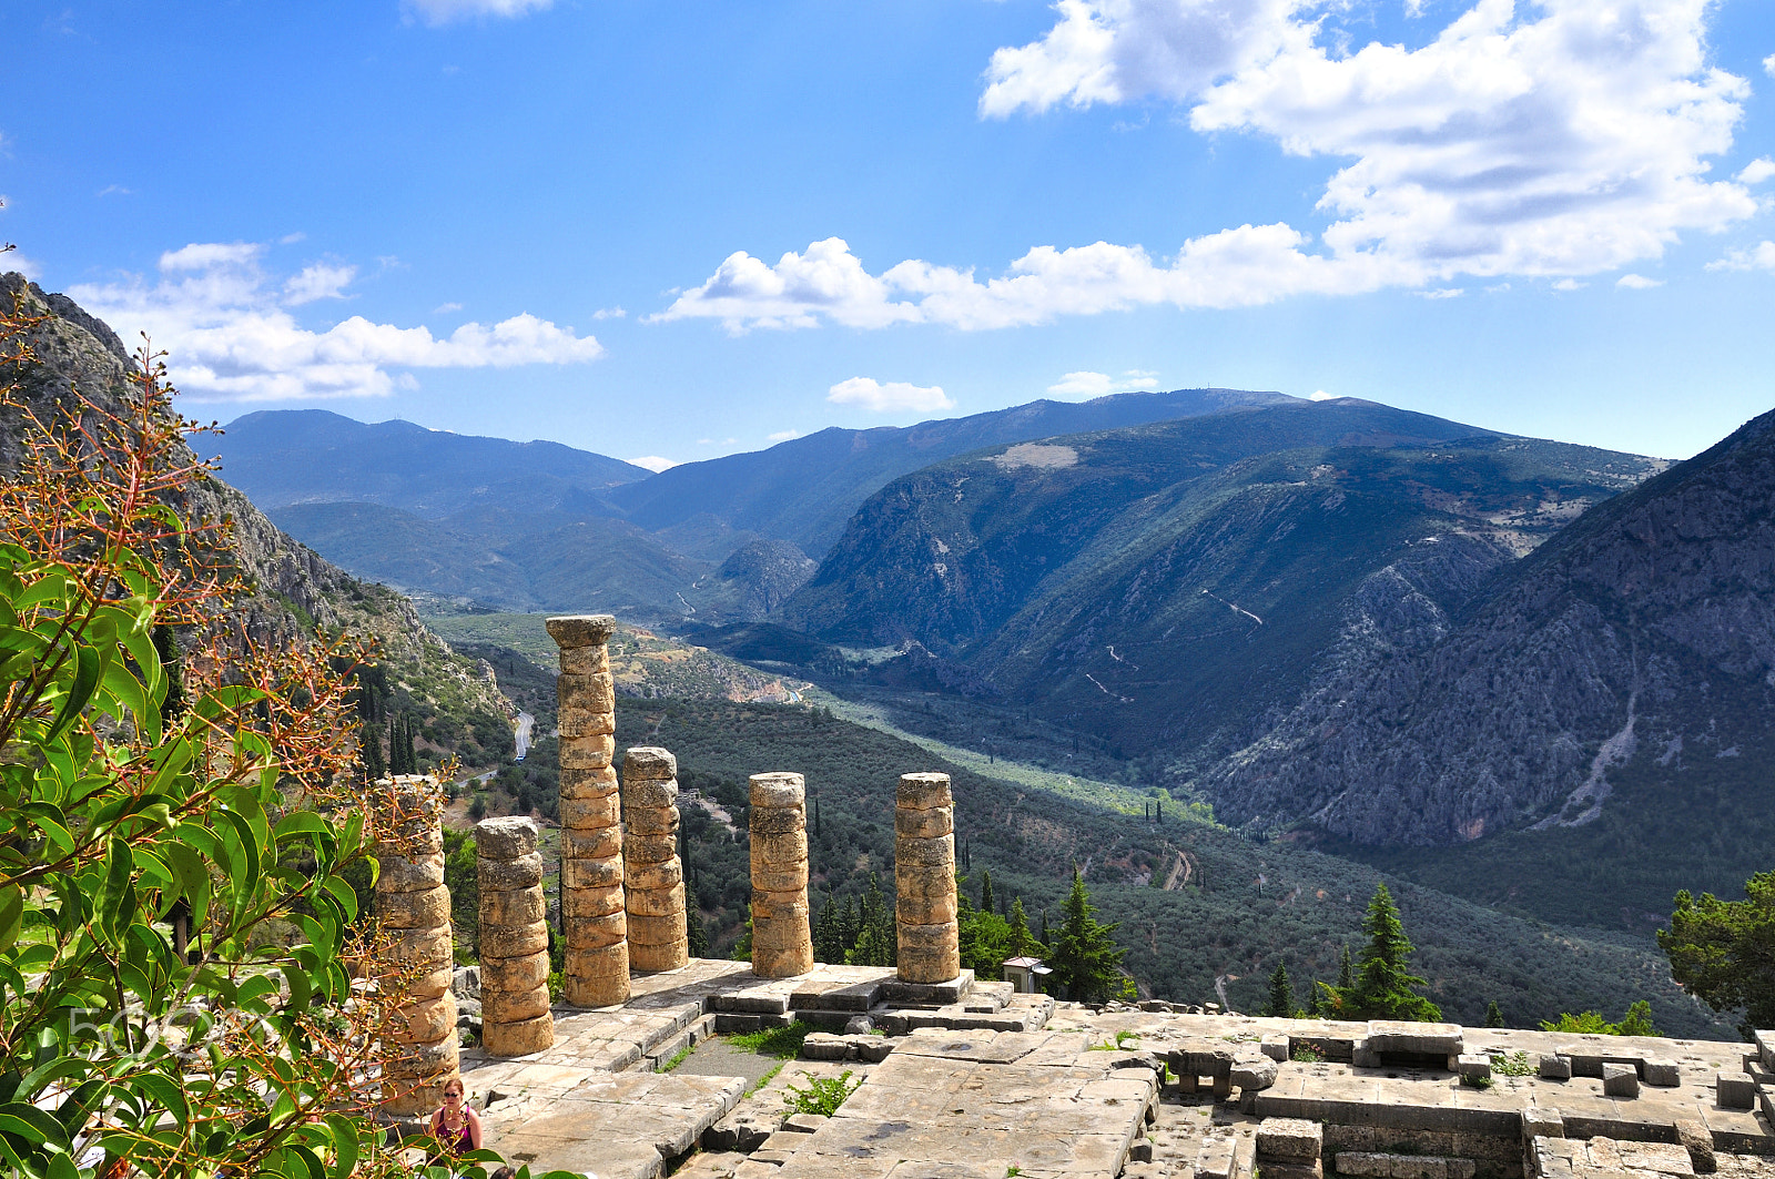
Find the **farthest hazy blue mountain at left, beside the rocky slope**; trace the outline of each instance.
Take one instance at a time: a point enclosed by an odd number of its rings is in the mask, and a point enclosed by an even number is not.
[[[651,474],[559,442],[481,439],[410,421],[366,424],[327,410],[247,414],[206,442],[224,476],[263,510],[369,502],[424,518],[479,504],[600,510],[600,492]]]

